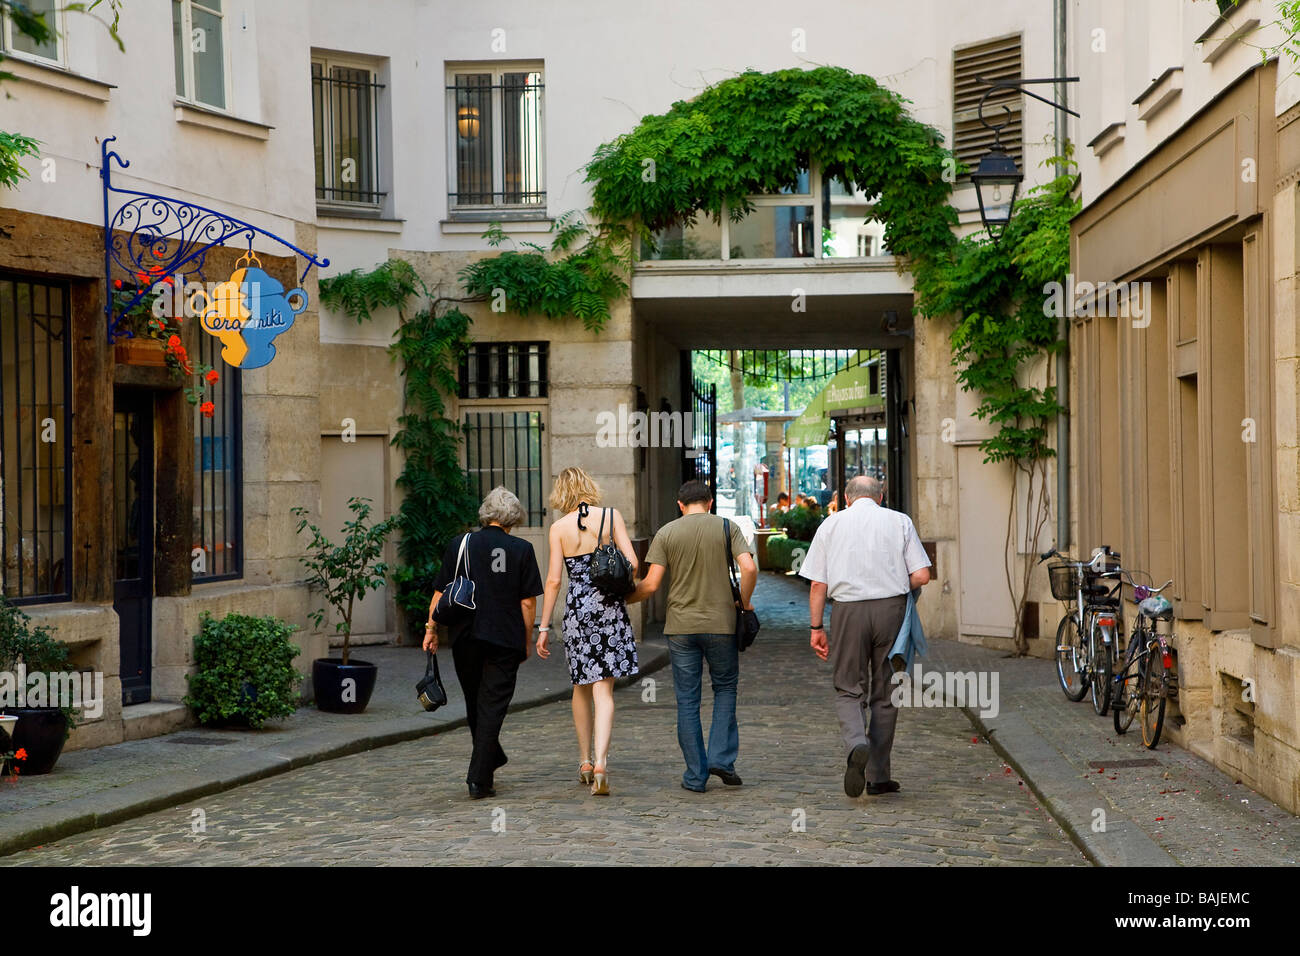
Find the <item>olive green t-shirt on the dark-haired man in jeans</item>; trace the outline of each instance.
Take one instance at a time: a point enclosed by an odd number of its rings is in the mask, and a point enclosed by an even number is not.
[[[736,522],[731,523],[731,532],[732,554],[749,551]],[[654,536],[646,563],[662,564],[672,579],[664,633],[736,631],[736,605],[727,581],[723,542],[723,519],[706,512],[682,515]]]

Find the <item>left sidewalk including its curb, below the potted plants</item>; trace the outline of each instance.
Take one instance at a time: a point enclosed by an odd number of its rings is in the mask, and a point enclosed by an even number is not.
[[[420,709],[415,684],[424,676],[419,648],[367,646],[354,657],[380,667],[364,714],[326,714],[313,706],[260,731],[190,728],[60,757],[53,773],[0,779],[0,855],[60,836],[174,806],[318,761],[424,737],[464,724],[465,708],[451,653],[438,663],[447,704]],[[642,670],[667,662],[667,650],[641,648]],[[519,671],[514,710],[572,693],[563,652],[529,657]]]

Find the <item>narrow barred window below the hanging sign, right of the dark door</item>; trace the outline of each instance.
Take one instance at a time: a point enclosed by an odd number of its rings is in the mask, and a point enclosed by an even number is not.
[[[221,376],[207,393],[212,418],[194,410],[194,554],[195,581],[243,575],[243,434],[240,372],[221,362],[221,342],[199,337],[199,360]]]

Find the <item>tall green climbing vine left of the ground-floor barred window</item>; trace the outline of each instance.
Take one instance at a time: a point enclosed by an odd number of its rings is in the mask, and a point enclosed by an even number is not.
[[[434,298],[408,317],[407,302],[417,294],[428,297],[429,290],[404,259],[322,278],[320,290],[322,304],[358,323],[372,319],[380,308],[398,310],[390,354],[402,362],[403,406],[393,445],[402,449],[404,463],[396,480],[403,498],[393,581],[407,620],[419,622],[433,594],[447,540],[474,518],[476,502],[460,467],[462,433],[447,418],[445,398],[456,389],[469,316],[448,307],[448,299]]]

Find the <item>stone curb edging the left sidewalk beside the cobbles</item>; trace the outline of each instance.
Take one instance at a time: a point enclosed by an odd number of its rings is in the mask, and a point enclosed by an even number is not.
[[[630,678],[620,678],[615,682],[615,687],[627,687],[646,674],[662,670],[668,663],[667,646],[651,648],[642,643],[638,650],[642,653],[642,667]],[[551,693],[515,700],[507,713],[515,714],[555,704],[567,700],[569,695],[571,688],[566,687]],[[9,856],[87,830],[113,826],[148,813],[179,806],[200,797],[234,790],[246,783],[264,780],[268,777],[277,777],[312,763],[419,740],[464,726],[464,717],[432,724],[426,718],[403,717],[372,724],[360,736],[350,735],[346,728],[335,728],[285,741],[276,750],[254,750],[238,758],[213,761],[204,766],[202,774],[188,774],[181,778],[176,775],[155,777],[109,791],[65,800],[51,806],[22,810],[13,814],[12,819],[0,821],[0,856]]]

